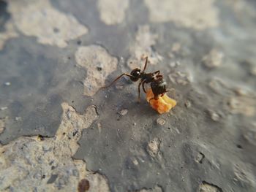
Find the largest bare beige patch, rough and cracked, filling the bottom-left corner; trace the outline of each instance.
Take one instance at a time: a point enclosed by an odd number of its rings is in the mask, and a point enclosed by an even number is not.
[[[67,103],[62,108],[55,137],[20,137],[0,146],[0,191],[77,191],[85,178],[90,191],[110,191],[105,177],[72,159],[81,132],[98,118],[95,107],[89,106],[83,115]]]

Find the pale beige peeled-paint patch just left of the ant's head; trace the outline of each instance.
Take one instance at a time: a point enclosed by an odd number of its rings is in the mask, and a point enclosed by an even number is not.
[[[75,53],[75,61],[87,70],[83,81],[86,96],[94,96],[105,85],[106,78],[116,70],[118,64],[117,58],[98,45],[79,47]]]

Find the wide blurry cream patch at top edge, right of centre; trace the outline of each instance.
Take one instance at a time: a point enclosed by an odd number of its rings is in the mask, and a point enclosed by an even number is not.
[[[150,20],[156,23],[173,21],[177,26],[203,30],[219,24],[214,0],[144,0]]]

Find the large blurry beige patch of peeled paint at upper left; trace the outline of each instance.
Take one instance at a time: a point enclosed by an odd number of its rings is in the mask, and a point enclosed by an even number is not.
[[[72,15],[65,15],[54,9],[49,0],[8,1],[8,12],[12,23],[26,36],[37,37],[44,45],[66,47],[67,41],[88,32]]]

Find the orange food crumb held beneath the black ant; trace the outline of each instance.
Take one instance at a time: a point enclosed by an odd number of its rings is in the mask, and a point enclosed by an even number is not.
[[[159,97],[159,99],[157,100],[154,99],[154,93],[152,92],[151,89],[147,91],[146,99],[150,103],[151,107],[157,112],[159,112],[159,114],[169,112],[177,104],[177,102],[174,99],[170,99],[170,97],[168,97],[167,94]]]

